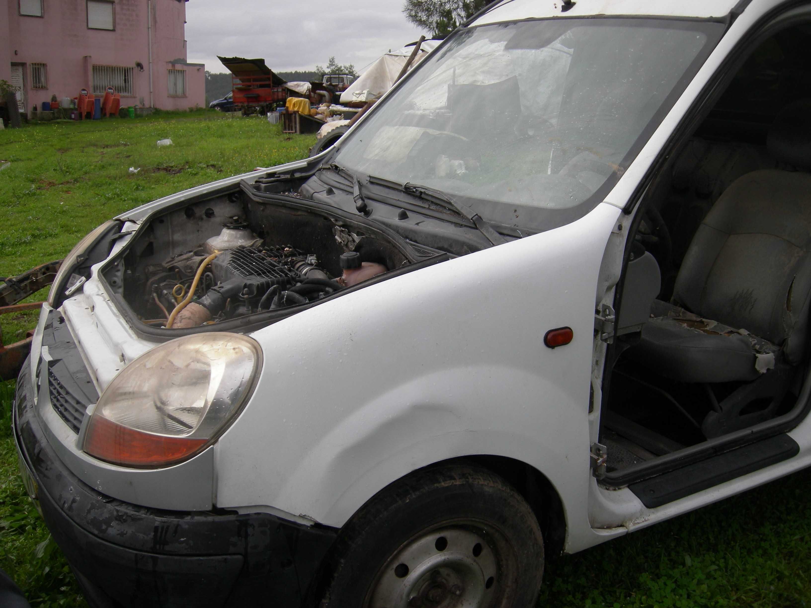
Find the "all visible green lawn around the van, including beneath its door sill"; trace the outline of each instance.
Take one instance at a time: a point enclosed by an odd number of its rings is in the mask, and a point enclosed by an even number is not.
[[[158,139],[173,146],[157,148]],[[95,225],[163,195],[305,156],[312,136],[208,112],[0,131],[0,276],[58,259]],[[129,173],[129,168],[140,168]],[[11,315],[6,315],[11,316]],[[19,340],[33,315],[0,319]],[[0,383],[0,568],[33,606],[84,606],[16,475]],[[811,472],[547,568],[539,606],[811,605]]]

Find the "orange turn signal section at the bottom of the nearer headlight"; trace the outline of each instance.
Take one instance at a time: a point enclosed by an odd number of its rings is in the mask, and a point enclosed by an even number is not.
[[[172,465],[200,451],[208,439],[185,439],[145,433],[93,416],[84,438],[84,451],[115,465],[153,467]]]

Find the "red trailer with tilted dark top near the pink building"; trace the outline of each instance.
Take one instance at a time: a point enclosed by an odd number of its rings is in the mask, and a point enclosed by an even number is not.
[[[234,110],[243,113],[268,113],[277,105],[284,105],[288,91],[286,82],[264,64],[264,59],[242,57],[219,57],[222,65],[231,72],[234,91]]]

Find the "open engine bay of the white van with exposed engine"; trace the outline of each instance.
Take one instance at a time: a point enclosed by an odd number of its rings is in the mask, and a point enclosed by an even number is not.
[[[152,218],[102,275],[142,323],[188,329],[311,304],[435,253],[340,210],[241,190]]]

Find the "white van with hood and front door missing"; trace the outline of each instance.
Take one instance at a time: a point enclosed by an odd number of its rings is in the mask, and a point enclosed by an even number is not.
[[[88,602],[526,608],[809,465],[809,32],[502,0],[319,156],[90,233],[14,417]]]

